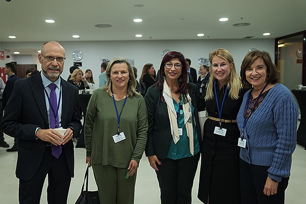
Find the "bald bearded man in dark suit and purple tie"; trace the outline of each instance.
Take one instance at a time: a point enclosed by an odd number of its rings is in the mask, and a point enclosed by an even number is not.
[[[2,127],[4,133],[19,139],[19,203],[39,203],[48,174],[48,203],[66,204],[74,176],[71,139],[82,128],[79,93],[60,77],[65,60],[61,44],[45,42],[38,60],[40,73],[15,82]],[[66,133],[62,135],[56,127],[63,127]]]

